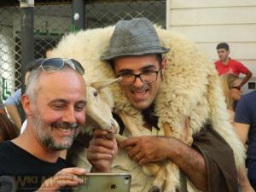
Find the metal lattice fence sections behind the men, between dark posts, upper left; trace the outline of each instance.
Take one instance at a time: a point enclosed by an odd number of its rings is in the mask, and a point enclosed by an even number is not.
[[[7,0],[6,2],[9,2]],[[21,86],[20,3],[0,4],[0,93],[3,100]],[[166,1],[85,1],[85,28],[113,25],[120,19],[147,17],[166,26]],[[63,34],[74,32],[72,1],[35,1],[34,58],[45,56]],[[26,46],[26,45],[24,45]]]

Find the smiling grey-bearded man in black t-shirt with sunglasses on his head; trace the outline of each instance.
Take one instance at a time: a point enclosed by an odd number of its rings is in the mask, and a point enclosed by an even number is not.
[[[73,59],[40,59],[21,97],[26,130],[0,145],[0,191],[68,191],[85,170],[60,158],[85,120],[84,68]],[[2,190],[2,189],[3,190]]]

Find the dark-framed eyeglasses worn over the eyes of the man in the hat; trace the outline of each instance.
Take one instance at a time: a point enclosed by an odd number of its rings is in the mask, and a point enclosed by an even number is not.
[[[139,74],[120,74],[118,78],[122,78],[120,84],[134,84],[136,79],[139,78],[145,84],[152,83],[157,80],[158,73],[160,72],[160,67],[158,71],[154,72],[144,72]]]

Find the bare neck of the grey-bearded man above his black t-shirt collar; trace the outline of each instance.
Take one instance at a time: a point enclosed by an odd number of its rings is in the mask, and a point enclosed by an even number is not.
[[[12,140],[13,143],[23,148],[28,153],[49,163],[55,163],[60,156],[60,151],[51,151],[38,142],[38,138],[32,131],[32,127],[26,126],[26,130],[17,138]]]

